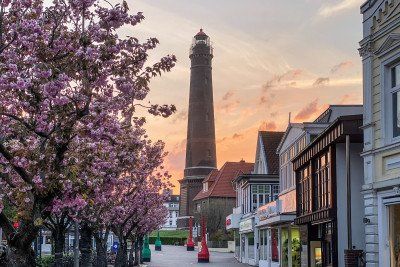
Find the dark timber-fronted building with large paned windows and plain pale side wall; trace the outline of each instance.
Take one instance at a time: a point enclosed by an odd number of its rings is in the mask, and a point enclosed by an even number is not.
[[[302,266],[345,266],[364,249],[361,125],[362,115],[337,118],[292,161]]]

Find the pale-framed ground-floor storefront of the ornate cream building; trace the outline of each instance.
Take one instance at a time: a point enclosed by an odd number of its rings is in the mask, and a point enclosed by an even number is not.
[[[400,266],[400,188],[378,193],[379,266]]]

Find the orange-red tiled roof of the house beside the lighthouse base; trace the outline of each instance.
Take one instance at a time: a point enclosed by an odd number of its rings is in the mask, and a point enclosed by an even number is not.
[[[213,181],[214,183],[207,191],[201,190],[193,200],[204,199],[208,197],[236,197],[232,181],[240,174],[251,173],[254,169],[254,163],[245,161],[226,162],[217,172],[211,172],[203,183]]]

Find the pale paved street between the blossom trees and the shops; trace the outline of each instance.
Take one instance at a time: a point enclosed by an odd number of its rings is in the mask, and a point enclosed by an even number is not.
[[[162,251],[151,249],[151,262],[149,267],[186,267],[186,266],[248,266],[236,261],[233,253],[210,252],[210,263],[197,263],[197,249],[186,251],[186,247],[181,246],[162,246]]]

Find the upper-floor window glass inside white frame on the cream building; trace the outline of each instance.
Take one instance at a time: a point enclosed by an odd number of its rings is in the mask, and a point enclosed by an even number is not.
[[[390,73],[393,137],[398,137],[400,136],[400,64],[392,67]]]

